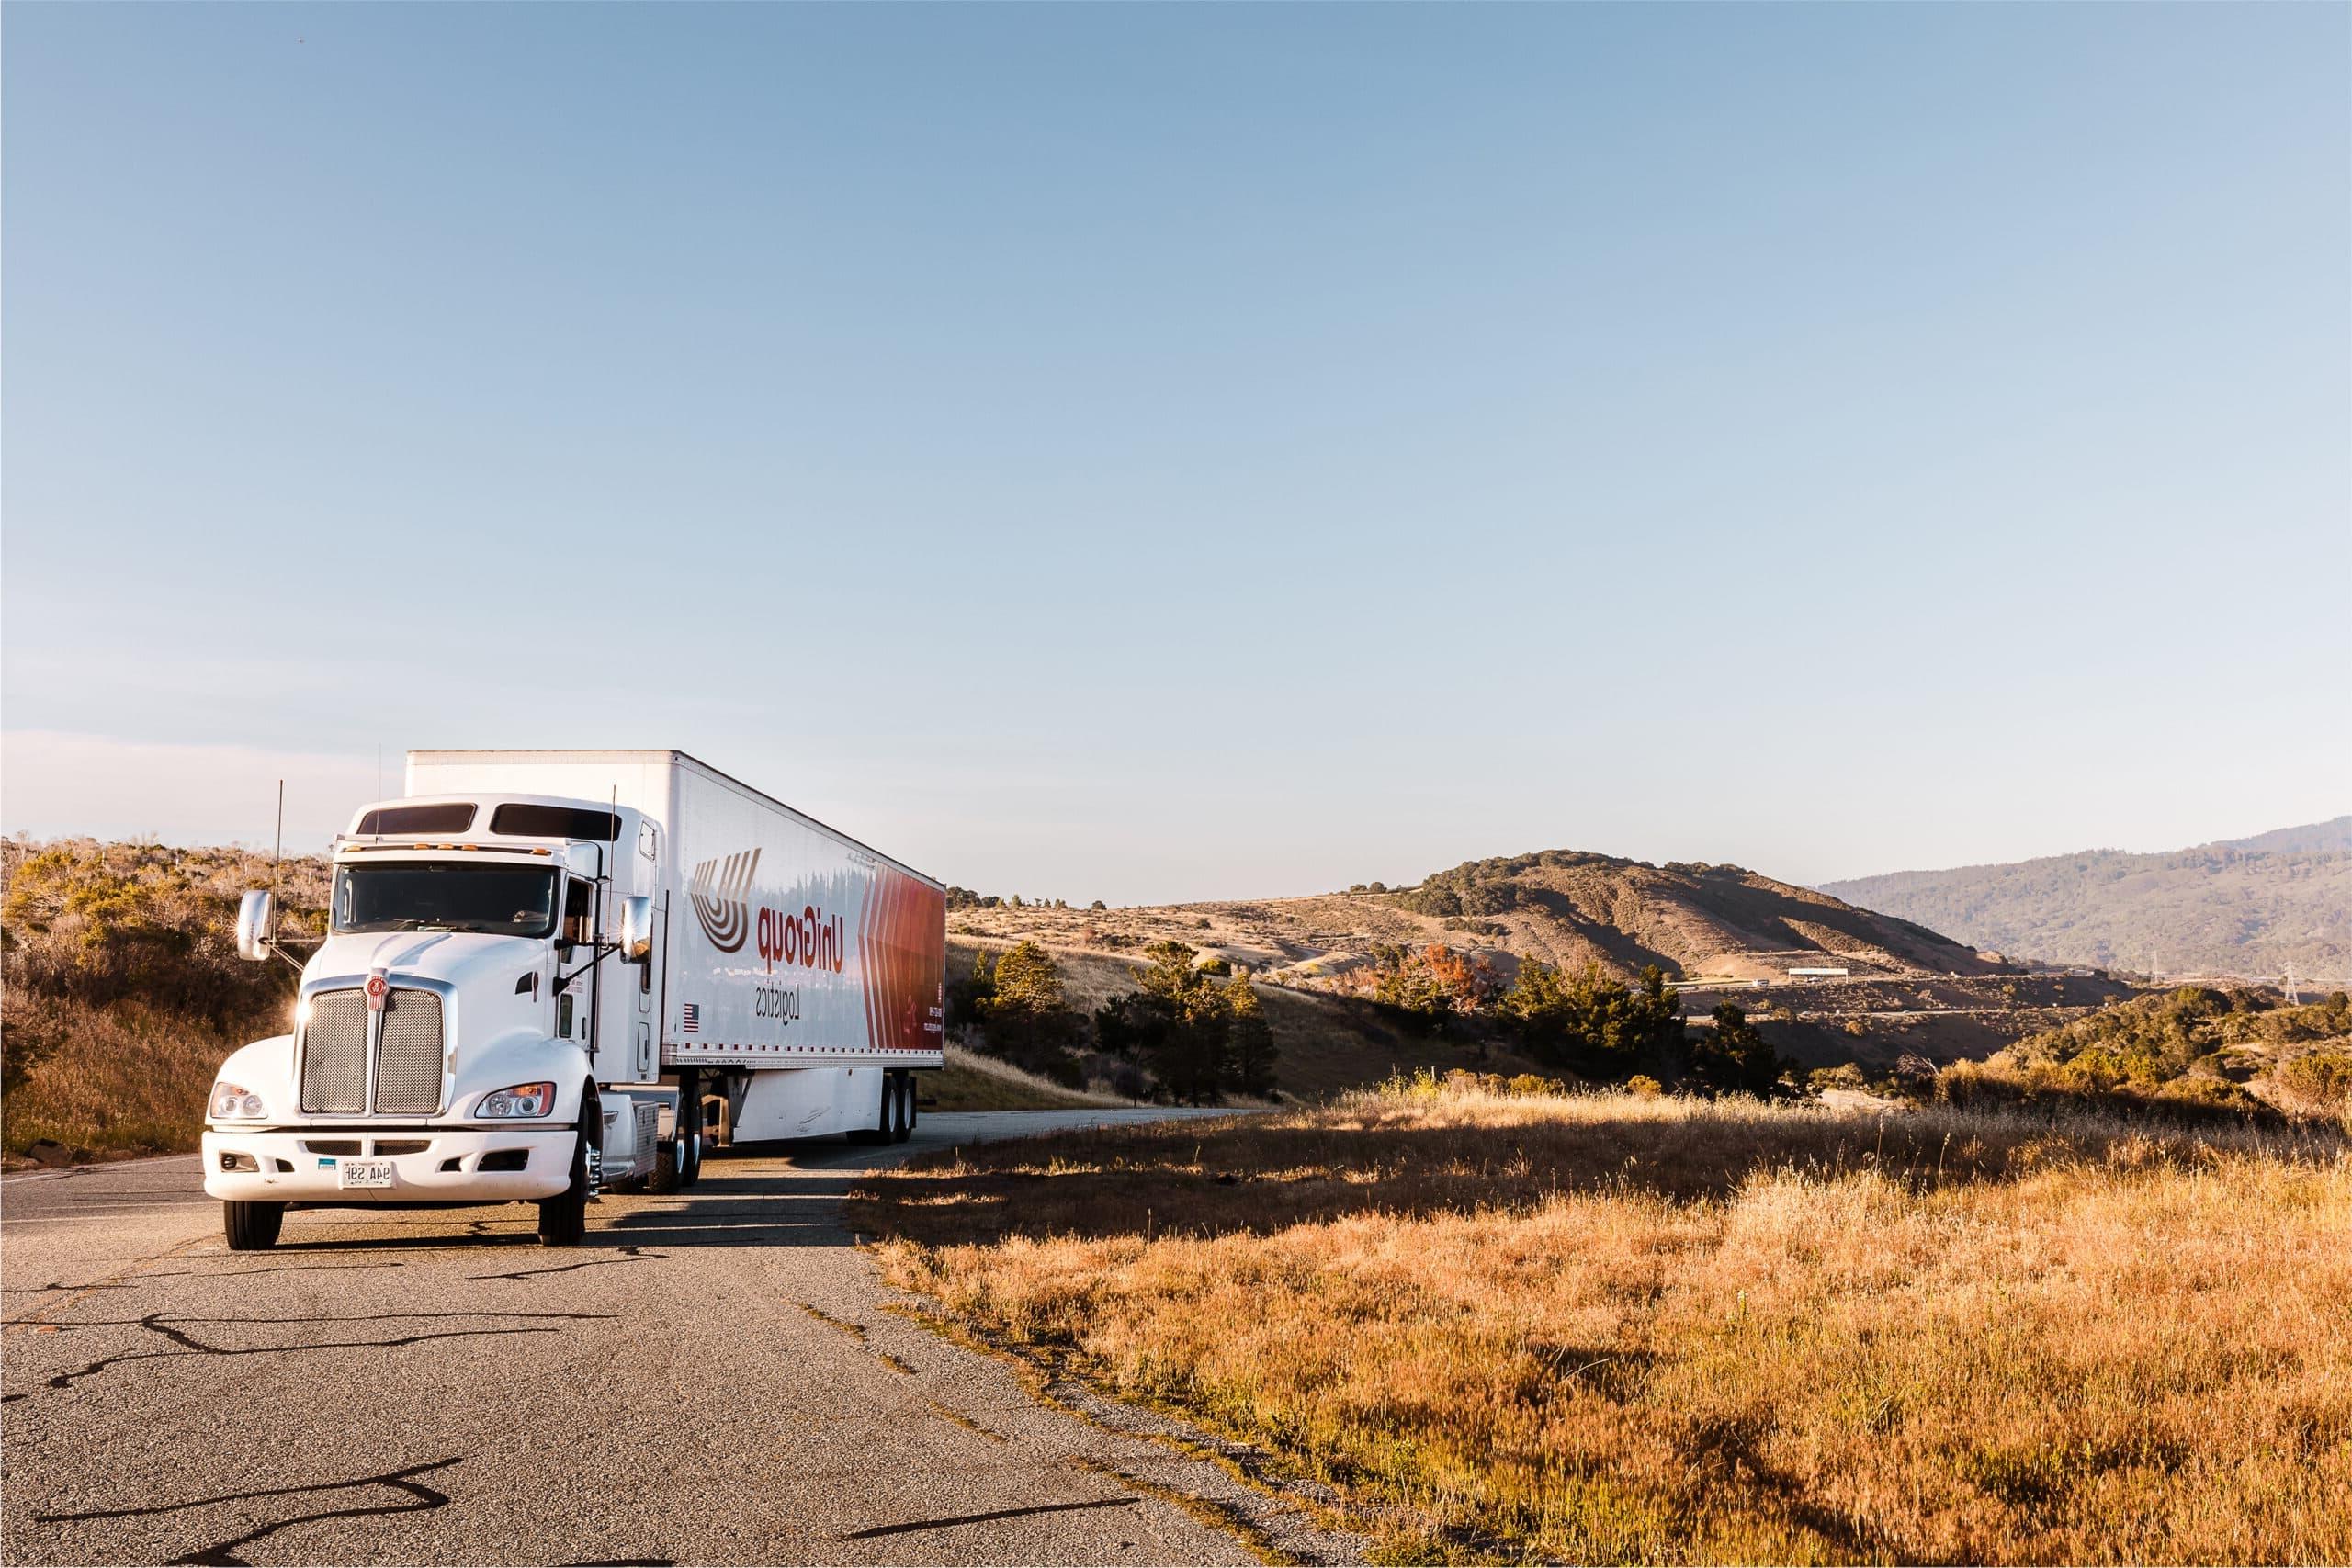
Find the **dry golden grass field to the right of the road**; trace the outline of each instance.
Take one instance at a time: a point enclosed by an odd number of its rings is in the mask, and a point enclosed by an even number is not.
[[[896,1284],[1289,1455],[1395,1559],[2352,1559],[2336,1128],[1392,1093],[858,1211]]]

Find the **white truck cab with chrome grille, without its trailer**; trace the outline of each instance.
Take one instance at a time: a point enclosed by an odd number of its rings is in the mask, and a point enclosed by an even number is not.
[[[273,1246],[287,1206],[499,1201],[567,1246],[600,1187],[691,1182],[699,1107],[659,1081],[661,832],[548,795],[362,806],[299,959],[247,893],[240,954],[301,985],[294,1030],[233,1053],[205,1112],[230,1248]]]

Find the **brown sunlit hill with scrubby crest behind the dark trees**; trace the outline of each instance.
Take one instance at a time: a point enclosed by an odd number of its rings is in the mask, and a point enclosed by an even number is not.
[[[1475,1044],[1475,1027],[1470,1039],[1423,1039],[1399,1032],[1392,1009],[1371,1006],[1430,950],[1465,964],[1472,990],[1508,985],[1522,959],[1571,973],[1599,964],[1621,980],[1656,964],[1679,980],[1691,1018],[1738,1001],[1802,1067],[1983,1058],[2126,994],[2103,978],[2020,973],[1912,922],[1738,865],[1649,865],[1566,849],[1465,860],[1411,889],[1359,884],[1122,910],[955,889],[948,905],[957,938],[981,947],[1028,938],[1073,980],[1096,973],[1091,990],[1073,987],[1087,990],[1087,1006],[1134,985],[1136,959],[1152,943],[1185,943],[1200,961],[1251,971],[1282,1044],[1282,1088],[1310,1098],[1399,1067],[1517,1070],[1477,1058],[1498,1041]],[[1844,973],[1790,973],[1804,969]],[[1458,1048],[1446,1053],[1444,1039]]]

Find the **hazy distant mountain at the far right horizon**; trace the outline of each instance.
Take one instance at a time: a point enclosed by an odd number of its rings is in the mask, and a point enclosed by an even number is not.
[[[2216,976],[2352,976],[2352,816],[2161,856],[1825,882],[1823,893],[2009,957]]]

